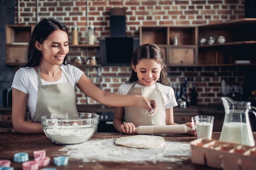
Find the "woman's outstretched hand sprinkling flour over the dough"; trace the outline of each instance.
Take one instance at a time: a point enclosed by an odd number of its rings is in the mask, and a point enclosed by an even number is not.
[[[157,110],[157,100],[146,98],[144,96],[140,96],[138,105],[145,108],[147,110],[145,113],[149,116],[153,116]]]

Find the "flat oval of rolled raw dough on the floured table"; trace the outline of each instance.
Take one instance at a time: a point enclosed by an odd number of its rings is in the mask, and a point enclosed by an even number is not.
[[[165,141],[161,136],[134,135],[119,137],[115,140],[115,144],[130,148],[156,149],[164,146]]]

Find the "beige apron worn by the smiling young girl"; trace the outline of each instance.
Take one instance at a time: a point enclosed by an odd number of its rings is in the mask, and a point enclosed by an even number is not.
[[[151,117],[151,116],[148,116],[148,114],[146,114],[146,109],[143,109],[139,106],[124,107],[125,121],[133,123],[135,127],[147,126],[152,124],[152,118],[153,118],[153,125],[166,125],[165,123],[166,110],[164,105],[164,99],[157,86],[157,83],[155,83],[156,88],[134,87],[136,83],[137,82],[135,82],[132,85],[128,94],[145,96],[145,97],[153,98],[157,100],[157,111],[155,112],[154,116]]]

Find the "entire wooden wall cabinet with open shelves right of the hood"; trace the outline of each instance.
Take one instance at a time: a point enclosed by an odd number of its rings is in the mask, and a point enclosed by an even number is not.
[[[256,18],[200,26],[140,26],[140,45],[157,44],[168,66],[256,64]],[[174,44],[174,37],[178,43]],[[217,37],[225,37],[219,44]],[[210,44],[201,39],[215,38]],[[249,61],[249,62],[248,62]]]

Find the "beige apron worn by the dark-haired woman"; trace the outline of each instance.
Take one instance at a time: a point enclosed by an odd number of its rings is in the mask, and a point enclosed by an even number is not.
[[[61,69],[61,67],[59,66]],[[67,78],[67,75],[61,70]],[[77,113],[76,92],[67,78],[66,83],[52,85],[41,85],[40,68],[38,74],[38,94],[36,102],[36,112],[33,122],[41,122],[41,117],[47,114],[56,113]]]

